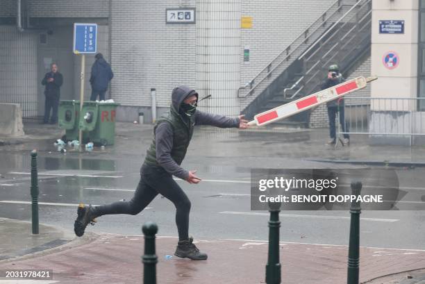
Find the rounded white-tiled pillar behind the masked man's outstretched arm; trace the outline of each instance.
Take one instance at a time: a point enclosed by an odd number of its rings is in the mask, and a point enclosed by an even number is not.
[[[240,113],[240,0],[197,1],[196,81],[201,110]]]

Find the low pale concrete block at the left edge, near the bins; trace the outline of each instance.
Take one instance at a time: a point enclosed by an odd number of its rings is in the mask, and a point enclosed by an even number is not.
[[[22,136],[22,111],[18,103],[0,103],[0,136]]]

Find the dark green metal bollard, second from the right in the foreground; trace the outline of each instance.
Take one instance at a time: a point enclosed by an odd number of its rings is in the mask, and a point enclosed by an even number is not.
[[[281,263],[279,258],[279,230],[281,222],[279,221],[280,203],[276,207],[269,204],[270,220],[269,220],[269,256],[266,265],[266,283],[281,283]]]

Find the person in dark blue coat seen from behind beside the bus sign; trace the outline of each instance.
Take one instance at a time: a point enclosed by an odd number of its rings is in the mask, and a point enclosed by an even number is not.
[[[90,76],[90,84],[92,85],[90,101],[96,101],[97,95],[99,95],[99,101],[104,101],[109,81],[114,78],[114,74],[109,63],[103,59],[102,53],[97,53],[94,58],[96,58],[96,61],[92,65],[92,75]]]

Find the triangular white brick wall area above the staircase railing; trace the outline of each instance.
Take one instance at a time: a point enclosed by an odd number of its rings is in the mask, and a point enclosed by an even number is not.
[[[265,68],[333,2],[242,0],[242,16],[253,17],[253,27],[241,29],[242,85]],[[250,48],[249,62],[243,60],[244,47]]]

